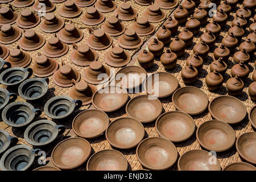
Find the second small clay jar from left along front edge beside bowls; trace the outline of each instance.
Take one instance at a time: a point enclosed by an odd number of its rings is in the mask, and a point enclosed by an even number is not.
[[[160,61],[164,68],[174,69],[177,63],[177,55],[167,48],[166,51],[160,57]]]

